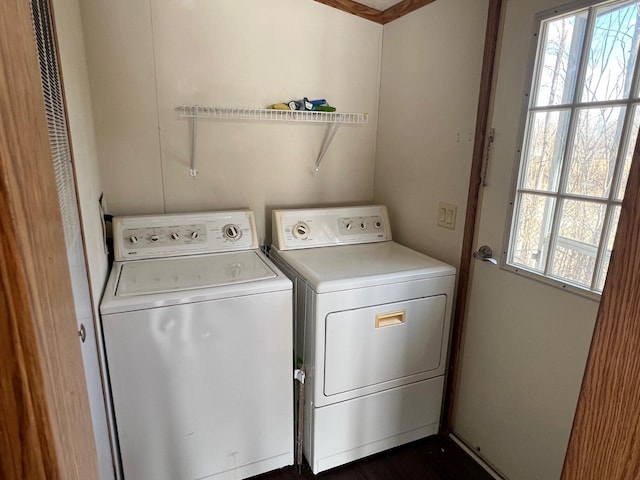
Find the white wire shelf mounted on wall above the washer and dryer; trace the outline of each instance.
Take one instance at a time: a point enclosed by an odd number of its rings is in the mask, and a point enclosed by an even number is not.
[[[275,110],[271,108],[210,107],[206,105],[180,105],[176,107],[181,117],[223,118],[229,120],[263,120],[281,122],[315,122],[366,124],[366,113],[315,112],[308,110]]]

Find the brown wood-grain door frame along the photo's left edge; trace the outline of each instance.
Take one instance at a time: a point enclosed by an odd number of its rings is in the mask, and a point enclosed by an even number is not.
[[[98,479],[29,2],[0,2],[0,477]]]

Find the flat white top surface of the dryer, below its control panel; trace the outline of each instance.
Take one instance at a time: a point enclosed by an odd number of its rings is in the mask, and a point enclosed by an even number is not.
[[[278,251],[317,293],[454,275],[456,270],[393,241]]]

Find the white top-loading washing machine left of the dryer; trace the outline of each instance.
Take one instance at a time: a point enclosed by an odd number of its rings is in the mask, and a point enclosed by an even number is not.
[[[100,307],[125,480],[293,464],[292,283],[251,211],[113,219]]]

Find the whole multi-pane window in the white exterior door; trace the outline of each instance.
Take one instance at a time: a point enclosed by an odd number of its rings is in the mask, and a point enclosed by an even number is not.
[[[542,19],[507,264],[601,292],[640,128],[640,0]]]

